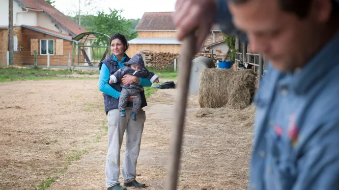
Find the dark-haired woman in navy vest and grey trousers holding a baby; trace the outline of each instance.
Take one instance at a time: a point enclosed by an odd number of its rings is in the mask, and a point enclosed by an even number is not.
[[[125,157],[122,166],[122,177],[124,186],[144,188],[145,184],[138,183],[136,178],[136,165],[140,151],[141,134],[143,124],[145,122],[145,112],[141,109],[137,114],[137,121],[131,117],[121,118],[118,110],[119,95],[121,92],[120,84],[109,85],[110,72],[114,73],[118,69],[124,67],[123,63],[129,61],[129,57],[125,54],[128,49],[126,38],[122,34],[114,34],[111,37],[111,51],[113,54],[99,65],[99,90],[103,92],[105,111],[108,120],[108,153],[106,160],[106,187],[107,190],[126,190],[120,186],[119,171],[120,171],[120,148],[124,132],[126,130],[126,146]],[[132,75],[125,75],[121,83],[129,85],[139,83],[140,86],[151,86],[152,83],[145,78],[138,78]],[[129,102],[133,102],[130,96]],[[146,106],[146,98],[144,92],[141,92],[141,108]],[[131,104],[131,103],[130,103]],[[129,106],[131,108],[131,106]],[[129,115],[131,109],[126,108],[126,114]]]

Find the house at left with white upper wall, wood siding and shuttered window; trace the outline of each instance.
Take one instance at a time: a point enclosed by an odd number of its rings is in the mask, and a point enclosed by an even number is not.
[[[8,18],[8,0],[0,0],[0,17]],[[72,38],[87,32],[45,0],[13,0],[14,64],[33,65],[34,50],[39,66],[67,66],[68,52],[73,58]],[[0,20],[0,66],[6,66],[8,19]],[[87,45],[96,40],[91,35]],[[77,56],[75,56],[77,59]]]

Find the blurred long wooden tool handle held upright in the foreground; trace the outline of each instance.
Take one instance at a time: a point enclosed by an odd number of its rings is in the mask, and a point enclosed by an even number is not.
[[[190,83],[192,57],[196,49],[195,31],[191,32],[183,40],[180,60],[178,64],[178,94],[176,97],[174,122],[172,126],[171,150],[167,173],[166,190],[176,190],[181,156],[181,144],[183,139],[184,123],[186,116],[187,94]]]

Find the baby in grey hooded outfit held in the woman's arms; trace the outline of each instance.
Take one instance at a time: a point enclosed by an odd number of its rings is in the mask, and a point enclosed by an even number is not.
[[[133,56],[128,62],[124,63],[124,66],[125,67],[119,69],[110,76],[110,84],[120,82],[125,74],[130,74],[141,78],[148,78],[152,83],[159,82],[159,76],[153,72],[147,71],[145,68],[145,64],[140,53]],[[133,120],[137,120],[137,113],[141,107],[140,92],[143,91],[143,88],[137,83],[132,83],[130,85],[120,84],[120,86],[122,87],[119,96],[120,116],[126,117],[125,107],[127,105],[129,96],[136,96],[136,98],[133,99],[132,113],[130,116]]]

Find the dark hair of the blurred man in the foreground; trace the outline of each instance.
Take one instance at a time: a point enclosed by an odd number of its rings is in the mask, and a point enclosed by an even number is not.
[[[228,1],[234,4],[239,4],[248,2],[249,0],[228,0]],[[311,1],[312,0],[279,0],[279,3],[283,11],[294,13],[299,18],[302,19],[308,15]],[[332,2],[333,2],[332,13],[335,13],[335,11],[338,10],[338,1],[332,0]]]

